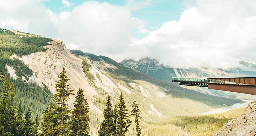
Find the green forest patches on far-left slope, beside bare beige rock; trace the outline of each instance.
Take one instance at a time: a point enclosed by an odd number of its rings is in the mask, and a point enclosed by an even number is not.
[[[45,51],[43,46],[49,45],[47,42],[50,41],[52,40],[49,38],[37,35],[18,35],[10,30],[0,29],[0,72],[2,75],[8,75],[9,81],[13,82],[14,91],[17,94],[16,104],[21,100],[24,110],[31,107],[33,116],[36,113],[41,116],[42,110],[49,103],[51,92],[45,86],[40,87],[35,83],[24,81],[22,77],[28,80],[33,71],[18,58],[10,58],[10,56],[15,54],[21,57],[34,52]],[[10,77],[5,65],[13,67],[16,76],[18,76],[16,79]],[[0,82],[0,84],[2,83]]]

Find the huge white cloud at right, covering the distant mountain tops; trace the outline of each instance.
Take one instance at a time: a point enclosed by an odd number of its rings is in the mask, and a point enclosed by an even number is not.
[[[253,4],[254,3],[254,4]],[[198,0],[179,21],[168,21],[132,44],[133,56],[173,67],[228,68],[256,62],[255,1]]]

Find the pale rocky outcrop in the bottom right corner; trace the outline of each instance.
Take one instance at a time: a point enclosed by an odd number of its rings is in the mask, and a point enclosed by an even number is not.
[[[229,120],[213,136],[256,136],[256,101],[248,104],[240,118]]]

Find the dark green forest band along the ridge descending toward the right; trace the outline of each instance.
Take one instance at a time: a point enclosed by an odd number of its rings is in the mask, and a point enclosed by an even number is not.
[[[220,106],[223,106],[223,104],[231,106],[234,103],[242,102],[239,99],[229,99],[225,97],[211,96],[211,95],[199,93],[197,91],[181,88],[179,86],[171,84],[170,82],[158,80],[146,74],[143,74],[141,72],[133,70],[105,56],[96,56],[93,54],[85,53],[80,50],[70,50],[70,52],[76,55],[88,56],[89,59],[92,59],[92,60],[98,61],[102,59],[106,63],[116,66],[117,69],[108,68],[108,71],[111,74],[110,77],[116,79],[117,82],[124,81],[126,86],[128,87],[130,86],[129,82],[133,82],[133,80],[144,80],[152,84],[155,84],[157,86],[161,86],[165,88],[165,93],[170,94],[173,97],[188,98],[191,100],[200,101],[211,107],[220,107]]]

